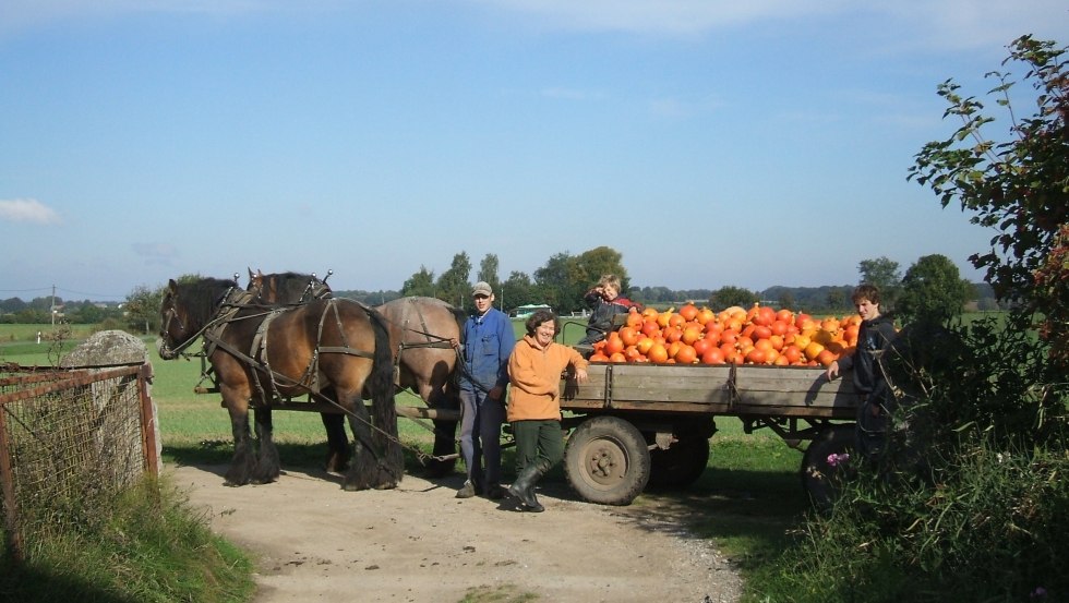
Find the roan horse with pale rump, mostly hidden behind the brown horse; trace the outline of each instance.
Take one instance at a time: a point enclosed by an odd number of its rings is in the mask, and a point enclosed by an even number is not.
[[[332,273],[327,273],[329,277]],[[249,270],[250,292],[268,304],[303,303],[310,299],[333,296],[325,279],[299,273],[255,274]],[[458,354],[451,341],[460,340],[460,326],[466,318],[453,305],[427,297],[398,298],[376,305],[386,321],[389,349],[396,366],[396,390],[410,389],[432,409],[459,410],[455,371]],[[348,438],[341,417],[322,413],[327,434],[328,471],[340,471],[348,461]],[[457,421],[435,419],[433,459],[427,471],[444,477],[456,463]]]

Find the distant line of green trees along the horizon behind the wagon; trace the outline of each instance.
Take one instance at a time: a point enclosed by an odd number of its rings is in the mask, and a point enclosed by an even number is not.
[[[920,258],[905,275],[899,264],[887,257],[865,260],[858,264],[858,282],[872,282],[880,287],[889,310],[905,314],[938,311],[942,314],[960,313],[963,304],[976,302],[978,310],[996,310],[993,288],[987,284],[970,284],[959,277],[954,264],[942,255]],[[752,291],[736,286],[719,289],[670,289],[668,287],[632,286],[623,255],[608,246],[599,246],[578,255],[568,252],[551,256],[533,274],[512,272],[502,280],[499,276],[496,254],[487,254],[472,274],[473,266],[466,252],[457,253],[448,269],[440,275],[425,266],[413,273],[397,290],[338,290],[335,294],[350,298],[369,305],[410,296],[424,296],[444,300],[463,310],[471,309],[470,292],[473,282],[484,280],[493,287],[499,307],[504,311],[519,305],[549,304],[560,314],[581,312],[586,309],[584,294],[603,274],[621,278],[624,294],[644,305],[669,307],[685,302],[707,304],[723,309],[731,305],[748,307],[755,303],[785,307],[807,313],[851,312],[850,294],[855,285],[826,285],[820,287],[773,286],[762,291]],[[197,278],[185,275],[182,278]],[[125,328],[132,333],[155,333],[159,327],[159,304],[163,287],[155,289],[139,286],[125,301],[99,303],[89,300],[64,301],[61,298],[43,297],[24,302],[19,298],[0,301],[0,322],[50,322],[56,316],[70,324],[105,324],[107,328]]]

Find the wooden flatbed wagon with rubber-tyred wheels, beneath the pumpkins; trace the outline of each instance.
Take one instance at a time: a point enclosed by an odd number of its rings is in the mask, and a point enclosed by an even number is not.
[[[709,459],[717,417],[750,433],[769,429],[793,447],[810,441],[803,485],[817,503],[831,495],[828,455],[853,438],[858,397],[850,379],[816,366],[591,363],[582,384],[563,378],[570,430],[565,470],[586,499],[629,504],[647,484],[686,486]]]

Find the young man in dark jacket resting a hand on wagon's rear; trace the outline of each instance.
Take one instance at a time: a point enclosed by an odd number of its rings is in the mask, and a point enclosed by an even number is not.
[[[880,357],[890,349],[897,331],[894,319],[880,313],[880,294],[875,285],[860,285],[851,294],[851,300],[862,319],[857,330],[857,349],[828,365],[826,374],[830,381],[841,371],[853,370],[854,390],[861,398],[856,447],[863,458],[873,460],[882,449],[888,413],[894,401]]]

